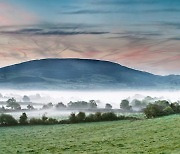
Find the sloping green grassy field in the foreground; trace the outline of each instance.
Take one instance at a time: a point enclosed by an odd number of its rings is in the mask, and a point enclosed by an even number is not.
[[[53,126],[0,128],[0,154],[179,154],[180,116]]]

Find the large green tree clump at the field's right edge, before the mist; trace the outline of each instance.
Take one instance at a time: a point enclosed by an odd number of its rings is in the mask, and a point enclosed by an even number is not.
[[[166,100],[156,101],[155,103],[150,103],[143,110],[147,118],[156,118],[160,116],[167,116],[171,114],[180,114],[180,104],[169,103]]]

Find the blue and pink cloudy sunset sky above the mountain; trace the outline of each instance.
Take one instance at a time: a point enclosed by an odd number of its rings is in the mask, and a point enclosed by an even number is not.
[[[0,67],[43,58],[180,74],[180,0],[0,0]]]

